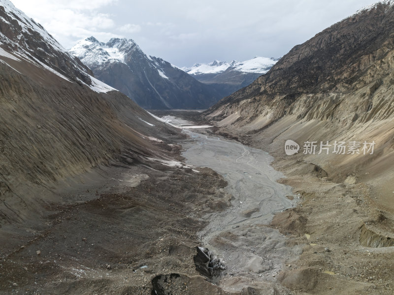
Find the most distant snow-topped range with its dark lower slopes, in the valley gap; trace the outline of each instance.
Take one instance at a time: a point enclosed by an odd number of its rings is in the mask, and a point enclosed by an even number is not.
[[[202,83],[215,85],[227,96],[251,84],[259,76],[265,74],[278,60],[256,56],[244,62],[214,61],[209,64],[182,67],[182,69]]]

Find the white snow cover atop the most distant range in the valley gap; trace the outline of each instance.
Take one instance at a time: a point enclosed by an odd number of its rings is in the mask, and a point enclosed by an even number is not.
[[[277,61],[278,59],[256,56],[244,62],[231,61],[226,63],[215,60],[209,64],[195,64],[191,67],[181,67],[181,69],[191,75],[218,74],[227,69],[244,73],[265,74]]]

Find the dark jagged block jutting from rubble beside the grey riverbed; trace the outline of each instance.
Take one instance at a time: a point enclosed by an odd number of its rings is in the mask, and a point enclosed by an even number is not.
[[[209,278],[218,276],[222,270],[227,267],[220,261],[219,258],[213,255],[207,248],[196,247],[197,255],[193,257],[196,264],[196,269],[203,276]]]

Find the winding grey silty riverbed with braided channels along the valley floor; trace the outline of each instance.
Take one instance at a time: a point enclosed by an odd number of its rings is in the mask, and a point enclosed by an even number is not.
[[[173,117],[166,120],[182,125],[182,120]],[[223,175],[228,182],[225,191],[233,196],[229,209],[204,218],[209,224],[200,232],[202,245],[228,267],[221,287],[228,291],[240,291],[245,286],[272,290],[276,274],[285,262],[299,255],[300,249],[287,246],[286,237],[267,225],[274,213],[295,206],[298,197],[293,196],[291,187],[276,182],[284,175],[270,166],[273,158],[263,150],[203,135],[198,129],[183,132],[190,135],[182,142],[186,163]]]

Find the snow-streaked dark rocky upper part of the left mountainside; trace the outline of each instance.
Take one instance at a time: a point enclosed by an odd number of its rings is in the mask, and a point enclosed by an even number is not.
[[[29,62],[70,82],[83,83],[95,91],[115,90],[92,77],[92,72],[69,54],[41,25],[17,9],[11,1],[0,0],[0,55],[21,63]],[[1,63],[7,64],[2,60]]]

